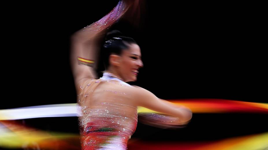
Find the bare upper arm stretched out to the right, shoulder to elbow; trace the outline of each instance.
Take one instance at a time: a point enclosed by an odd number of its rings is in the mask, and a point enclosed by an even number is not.
[[[135,86],[135,101],[136,104],[142,107],[152,109],[164,114],[175,116],[179,118],[181,123],[187,122],[192,118],[191,109],[183,105],[175,105],[169,101],[159,99],[150,91]]]

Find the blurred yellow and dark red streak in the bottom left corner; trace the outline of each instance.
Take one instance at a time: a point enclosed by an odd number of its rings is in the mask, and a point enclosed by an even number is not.
[[[0,121],[0,147],[32,149],[79,149],[79,134],[42,131],[18,124]]]

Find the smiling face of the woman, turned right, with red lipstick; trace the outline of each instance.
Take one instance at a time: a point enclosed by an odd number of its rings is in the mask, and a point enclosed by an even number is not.
[[[130,44],[128,50],[122,51],[120,56],[121,64],[118,71],[124,82],[137,80],[138,70],[143,67],[141,57],[139,45],[134,43]]]

